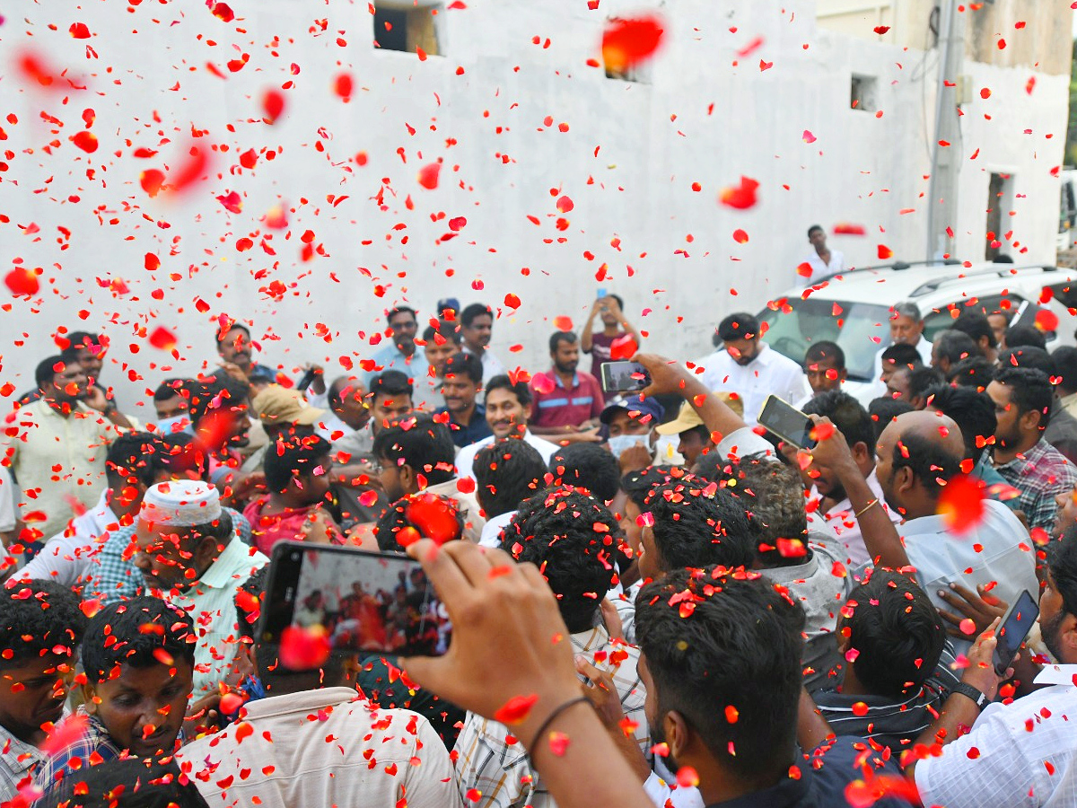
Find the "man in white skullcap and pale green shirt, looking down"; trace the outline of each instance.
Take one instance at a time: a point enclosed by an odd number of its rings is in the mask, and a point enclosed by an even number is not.
[[[134,586],[137,594],[159,595],[190,614],[198,635],[194,698],[215,692],[228,678],[239,647],[236,590],[269,559],[236,537],[216,488],[191,479],[158,483],[146,490],[134,542],[124,555],[130,563],[118,574],[106,569],[102,558],[95,582],[100,591],[84,590],[84,596],[108,598]],[[134,577],[139,572],[142,581]]]

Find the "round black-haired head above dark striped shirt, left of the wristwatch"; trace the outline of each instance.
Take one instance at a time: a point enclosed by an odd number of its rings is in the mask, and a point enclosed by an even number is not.
[[[946,629],[909,577],[876,569],[849,594],[838,630],[849,629],[853,670],[872,696],[915,693],[938,665]]]

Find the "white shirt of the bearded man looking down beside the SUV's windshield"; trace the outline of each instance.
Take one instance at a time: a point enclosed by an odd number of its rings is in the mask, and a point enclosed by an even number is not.
[[[699,380],[708,390],[735,392],[744,405],[744,422],[757,423],[768,395],[786,402],[800,401],[810,389],[803,368],[766,343],[749,364],[738,364],[725,348],[696,362],[703,372]]]

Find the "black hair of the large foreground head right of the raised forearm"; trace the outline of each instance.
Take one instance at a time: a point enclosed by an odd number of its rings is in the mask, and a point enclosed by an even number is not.
[[[796,755],[803,610],[757,573],[719,570],[676,570],[635,602],[658,720],[680,712],[744,781],[784,776]]]

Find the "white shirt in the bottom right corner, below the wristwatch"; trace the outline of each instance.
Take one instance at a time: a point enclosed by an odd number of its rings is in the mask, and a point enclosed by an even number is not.
[[[1073,808],[1077,805],[1077,665],[1045,669],[1060,682],[1009,705],[992,703],[973,732],[917,764],[924,805]],[[1046,674],[1046,675],[1045,675]],[[973,749],[976,752],[973,752]]]

